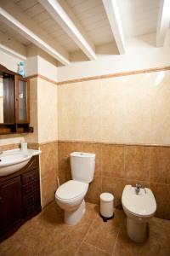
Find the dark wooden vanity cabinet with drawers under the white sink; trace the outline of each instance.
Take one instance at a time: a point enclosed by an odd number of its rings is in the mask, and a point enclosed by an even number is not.
[[[0,177],[0,241],[42,211],[39,157],[11,175]]]

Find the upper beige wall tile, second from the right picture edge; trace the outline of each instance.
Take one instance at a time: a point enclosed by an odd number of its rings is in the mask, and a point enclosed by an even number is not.
[[[127,76],[123,90],[125,101],[123,143],[150,143],[150,74]]]

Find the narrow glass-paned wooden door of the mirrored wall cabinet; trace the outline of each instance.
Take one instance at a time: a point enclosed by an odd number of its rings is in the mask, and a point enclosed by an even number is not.
[[[15,112],[17,124],[29,124],[29,82],[19,76],[15,76]]]

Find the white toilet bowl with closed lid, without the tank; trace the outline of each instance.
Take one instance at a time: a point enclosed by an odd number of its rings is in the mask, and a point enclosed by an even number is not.
[[[69,180],[55,192],[56,202],[65,211],[66,224],[74,225],[81,220],[85,212],[84,196],[87,191],[88,183]]]

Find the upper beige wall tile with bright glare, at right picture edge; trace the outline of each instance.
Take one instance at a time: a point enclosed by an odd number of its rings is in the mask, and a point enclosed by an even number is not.
[[[164,77],[161,78],[161,75]],[[160,79],[160,82],[159,82]],[[159,83],[158,83],[159,82]],[[157,84],[158,83],[158,84]],[[170,144],[170,72],[151,73],[150,143]]]

